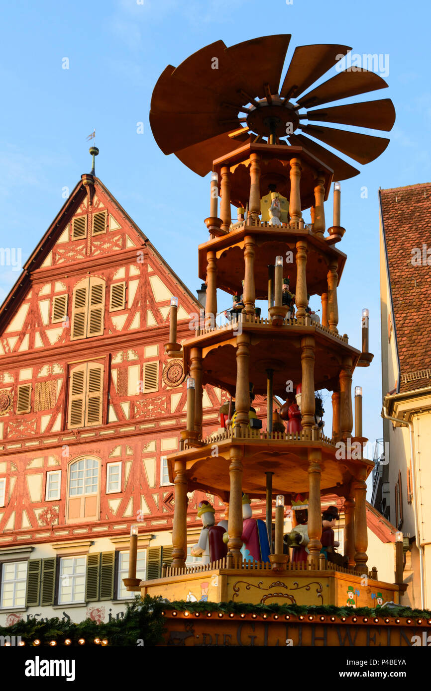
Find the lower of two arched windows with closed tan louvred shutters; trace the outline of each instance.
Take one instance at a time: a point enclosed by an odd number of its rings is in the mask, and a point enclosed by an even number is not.
[[[86,362],[71,369],[68,428],[102,424],[103,365]]]

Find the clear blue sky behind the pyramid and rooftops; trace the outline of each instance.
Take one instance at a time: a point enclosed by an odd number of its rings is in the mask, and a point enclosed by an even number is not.
[[[423,0],[3,3],[1,246],[21,247],[23,261],[30,254],[62,207],[63,188],[73,189],[89,171],[86,135],[95,128],[98,177],[194,291],[200,285],[196,247],[208,237],[203,219],[209,182],[173,155],[166,157],[152,137],[149,103],[165,66],[177,66],[218,39],[231,46],[273,33],[292,34],[286,66],[295,46],[313,43],[389,55],[389,88],[349,100],[390,97],[396,123],[383,155],[365,167],[353,162],[360,176],[342,183],[346,234],[339,245],[348,257],[338,292],[339,329],[354,345],[360,345],[362,308],[370,310],[374,362],[356,370],[354,385],[363,386],[364,433],[374,441],[382,436],[378,187],[431,179],[430,18]],[[136,131],[138,122],[143,134]],[[361,198],[364,186],[367,198]],[[1,300],[17,276],[0,267]]]

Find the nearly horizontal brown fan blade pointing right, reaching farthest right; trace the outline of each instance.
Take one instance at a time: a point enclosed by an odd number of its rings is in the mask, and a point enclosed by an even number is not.
[[[394,126],[395,108],[390,98],[385,98],[381,101],[350,103],[347,106],[308,111],[306,117],[307,120],[338,122],[342,125],[369,127],[389,132]]]

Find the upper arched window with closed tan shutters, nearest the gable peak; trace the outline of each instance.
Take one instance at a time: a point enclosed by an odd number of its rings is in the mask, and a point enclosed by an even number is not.
[[[100,336],[103,333],[105,282],[84,278],[73,290],[71,340]]]

